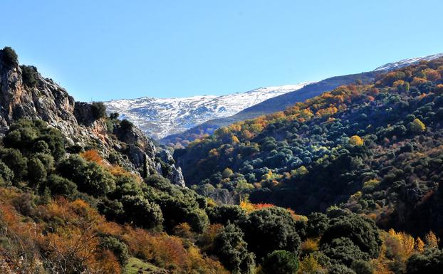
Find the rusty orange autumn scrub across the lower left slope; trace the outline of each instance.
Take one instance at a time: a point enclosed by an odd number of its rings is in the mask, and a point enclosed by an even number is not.
[[[103,235],[121,239],[130,255],[170,269],[172,273],[191,270],[226,273],[220,263],[207,258],[198,248],[186,248],[182,238],[105,221],[80,199],[61,198],[33,206],[31,215],[39,221],[26,220],[12,205],[21,195],[0,189],[0,236],[8,241],[0,248],[0,267],[11,273],[28,273],[26,271],[37,271],[43,266],[58,273],[121,273],[125,265],[119,264],[113,251],[100,246]],[[39,261],[43,265],[39,265]]]

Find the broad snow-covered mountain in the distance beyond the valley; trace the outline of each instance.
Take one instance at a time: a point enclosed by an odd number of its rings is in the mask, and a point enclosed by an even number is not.
[[[257,88],[246,93],[187,98],[138,98],[104,102],[108,112],[120,113],[154,139],[183,132],[208,120],[228,117],[269,98],[310,83]]]

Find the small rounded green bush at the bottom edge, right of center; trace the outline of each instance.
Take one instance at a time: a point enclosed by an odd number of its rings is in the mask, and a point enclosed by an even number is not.
[[[265,274],[293,274],[298,270],[298,258],[288,251],[273,251],[261,266]]]

